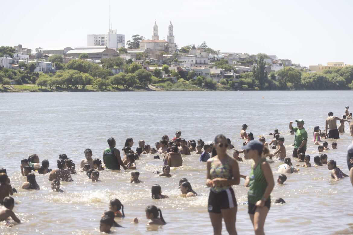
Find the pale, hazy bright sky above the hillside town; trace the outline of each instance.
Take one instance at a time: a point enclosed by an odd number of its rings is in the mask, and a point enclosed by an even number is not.
[[[0,45],[24,48],[79,47],[88,34],[109,30],[109,0],[1,1]],[[125,41],[152,36],[157,21],[175,43],[207,45],[221,52],[266,53],[302,66],[353,64],[353,1],[350,0],[110,0],[110,22]]]

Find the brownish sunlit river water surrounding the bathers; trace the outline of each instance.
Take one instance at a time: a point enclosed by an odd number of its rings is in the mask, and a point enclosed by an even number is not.
[[[330,97],[330,98],[329,98]],[[217,134],[231,138],[238,149],[241,125],[249,125],[255,138],[278,128],[285,137],[287,156],[292,155],[294,136],[288,123],[304,119],[309,135],[307,154],[317,155],[312,142],[313,127],[324,127],[329,111],[342,117],[345,106],[353,108],[351,91],[230,91],[230,92],[77,92],[77,93],[2,93],[0,94],[0,167],[7,169],[14,194],[14,212],[22,224],[12,228],[0,223],[1,234],[98,234],[102,212],[110,199],[124,204],[124,219],[115,219],[125,228],[113,228],[125,234],[212,234],[207,212],[209,188],[205,187],[206,165],[199,155],[184,157],[184,166],[172,169],[171,178],[152,174],[161,171],[162,160],[146,155],[136,162],[142,184],[130,184],[127,171],[103,171],[101,182],[92,183],[83,173],[73,175],[74,182],[62,182],[65,193],[50,188],[48,175],[36,174],[40,191],[22,190],[25,177],[20,174],[20,160],[36,153],[40,161],[48,159],[56,168],[59,154],[79,166],[84,149],[102,158],[106,140],[114,137],[117,148],[132,137],[154,146],[163,135],[171,139],[176,130],[186,140],[202,138],[213,141]],[[324,130],[324,128],[321,128]],[[331,146],[331,140],[328,141]],[[337,161],[344,173],[347,146],[352,142],[349,126],[337,140],[337,149],[326,151],[328,159]],[[274,150],[272,150],[274,151]],[[232,151],[229,151],[232,154]],[[162,156],[161,156],[162,157]],[[295,164],[296,161],[292,160]],[[239,163],[240,173],[248,175],[252,160]],[[271,163],[275,180],[279,162]],[[178,189],[180,178],[187,178],[199,197],[183,198]],[[151,186],[160,184],[169,199],[151,199]],[[253,234],[247,214],[247,189],[244,180],[233,186],[238,202],[238,234]],[[287,202],[272,204],[265,223],[267,234],[352,234],[353,188],[349,178],[333,181],[326,166],[301,168],[288,175],[285,185],[276,185],[271,193]],[[161,208],[167,224],[147,227],[145,207]],[[132,224],[132,218],[140,222]],[[223,224],[223,233],[226,234]]]

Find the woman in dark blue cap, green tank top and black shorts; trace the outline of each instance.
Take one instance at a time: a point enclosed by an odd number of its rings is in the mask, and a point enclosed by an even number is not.
[[[245,149],[246,156],[254,160],[247,193],[248,213],[255,234],[264,234],[265,219],[271,205],[270,194],[275,186],[272,170],[266,161],[269,150],[257,140],[250,141],[242,148]]]

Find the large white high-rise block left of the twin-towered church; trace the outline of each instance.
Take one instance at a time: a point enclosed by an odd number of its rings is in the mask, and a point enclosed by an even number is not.
[[[116,30],[110,30],[107,34],[89,34],[87,35],[88,46],[106,46],[109,49],[118,50],[125,47],[125,35],[116,33]]]

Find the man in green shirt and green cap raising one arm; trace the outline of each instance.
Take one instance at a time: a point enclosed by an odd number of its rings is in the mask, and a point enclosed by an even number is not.
[[[295,120],[295,122],[297,122],[297,127],[293,127],[293,122],[289,122],[289,130],[295,132],[293,157],[298,157],[300,153],[305,154],[308,134],[303,127],[304,121],[302,119]]]

